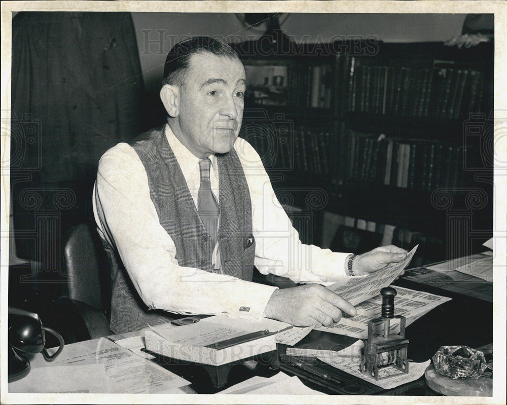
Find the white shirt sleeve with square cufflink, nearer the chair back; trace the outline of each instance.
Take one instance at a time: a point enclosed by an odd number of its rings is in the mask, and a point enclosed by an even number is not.
[[[118,250],[149,308],[250,319],[263,314],[275,287],[179,266],[174,241],[150,198],[146,171],[128,144],[100,159],[93,208],[99,234]]]

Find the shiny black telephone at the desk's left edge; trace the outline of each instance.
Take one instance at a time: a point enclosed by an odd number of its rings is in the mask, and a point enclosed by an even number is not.
[[[30,361],[24,354],[42,352],[46,361],[53,361],[63,350],[64,342],[61,335],[50,327],[43,326],[39,315],[19,308],[9,307],[9,357],[8,382],[19,380],[30,372]],[[44,345],[45,332],[58,339],[60,347],[50,355]]]

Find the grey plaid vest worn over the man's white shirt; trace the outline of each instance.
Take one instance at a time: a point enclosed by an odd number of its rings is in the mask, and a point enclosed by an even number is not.
[[[178,165],[164,129],[151,130],[131,143],[148,175],[152,199],[160,225],[176,246],[180,266],[208,272],[213,246],[197,213],[187,182]],[[218,240],[222,271],[251,281],[255,257],[252,235],[251,200],[245,174],[234,149],[216,155],[219,170],[220,225]],[[106,243],[112,263],[111,330],[125,333],[150,325],[169,322],[181,315],[149,309],[140,299],[118,252]],[[189,297],[192,300],[192,297]]]

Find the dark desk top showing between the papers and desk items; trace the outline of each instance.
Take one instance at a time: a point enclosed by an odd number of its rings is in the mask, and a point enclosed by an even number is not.
[[[428,360],[442,345],[467,345],[470,347],[479,347],[492,342],[493,317],[491,302],[461,296],[460,294],[441,290],[434,286],[416,284],[413,281],[406,280],[404,278],[397,280],[395,285],[425,290],[427,292],[452,298],[451,301],[433,309],[431,312],[407,327],[406,337],[410,340],[408,356],[415,362]],[[474,320],[473,323],[470,322],[471,319]],[[141,334],[141,332],[138,331],[131,334],[131,336],[134,336],[135,334]],[[111,340],[115,340],[115,337],[112,337]],[[113,342],[111,342],[111,344],[113,344]],[[79,343],[76,345],[79,345]],[[73,345],[68,345],[67,349],[72,347]],[[279,349],[283,352],[283,346],[280,346]],[[357,385],[365,387],[365,390],[357,392],[358,394],[436,395],[433,391],[426,387],[423,378],[391,390],[382,390],[379,387],[373,386],[372,384],[363,382],[353,376],[336,370],[319,360],[315,359],[313,360],[313,363],[316,366],[321,367],[323,370],[335,374],[339,378],[355,382]],[[34,366],[37,364],[38,363],[35,362],[33,363]],[[192,385],[190,385],[188,389],[178,389],[179,393],[215,393],[220,391],[213,389],[210,384],[209,377],[199,367],[181,366],[170,363],[164,363],[161,365],[174,374],[192,382]],[[281,364],[280,368],[283,373],[298,375],[310,388],[330,394],[344,393],[333,389],[334,387],[329,384],[315,381],[315,379],[310,375],[305,375],[305,373],[300,370],[296,370],[295,367],[291,367],[287,364]],[[229,383],[224,388],[255,375],[269,377],[276,373],[280,373],[280,371],[269,370],[267,367],[262,366],[256,366],[254,369],[249,369],[245,365],[239,364],[231,371]],[[20,383],[22,384],[19,385]],[[30,386],[29,383],[30,374],[25,377],[25,379],[18,382],[18,389],[21,389],[22,391],[23,384],[28,387]],[[11,386],[12,385],[9,384],[9,387]],[[174,393],[174,391],[172,392]],[[348,394],[353,394],[353,392],[348,392]]]

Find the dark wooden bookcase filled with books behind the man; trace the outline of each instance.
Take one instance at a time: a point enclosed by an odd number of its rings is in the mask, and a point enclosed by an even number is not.
[[[317,208],[294,193],[291,206],[318,219],[305,242],[320,244],[326,225],[317,211],[325,210],[375,232],[387,225],[393,243],[406,247],[422,236],[434,242],[428,260],[451,259],[463,249],[446,251],[449,215],[470,211],[476,189],[485,202],[473,207],[474,224],[463,234],[491,233],[493,43],[252,49],[237,46],[249,82],[240,136],[263,158],[275,192],[326,193]],[[447,210],[435,203],[444,192],[454,204]]]

